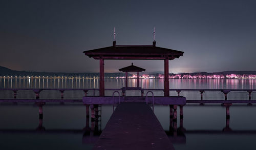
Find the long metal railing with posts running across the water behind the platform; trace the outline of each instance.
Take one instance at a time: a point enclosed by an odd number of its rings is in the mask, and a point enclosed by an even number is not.
[[[105,89],[105,96],[121,89]],[[125,96],[143,96],[151,91],[163,96],[163,89],[125,91]],[[232,89],[170,89],[170,96],[184,96],[186,100],[256,100],[256,90]],[[0,89],[0,99],[82,99],[83,96],[99,96],[99,89]]]

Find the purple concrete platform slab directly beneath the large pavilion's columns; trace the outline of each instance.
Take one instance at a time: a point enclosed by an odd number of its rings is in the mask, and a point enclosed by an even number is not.
[[[152,96],[148,96],[148,103],[153,102]],[[112,96],[87,96],[82,98],[84,104],[113,104]],[[120,96],[120,102],[146,102],[145,96]],[[114,103],[118,103],[118,96],[114,97]],[[186,98],[183,96],[154,97],[155,104],[186,104]]]

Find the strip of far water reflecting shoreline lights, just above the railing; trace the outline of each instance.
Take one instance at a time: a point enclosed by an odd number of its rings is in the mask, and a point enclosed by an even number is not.
[[[124,82],[120,78],[106,78],[105,88],[122,88]],[[128,82],[130,87],[137,86],[136,79],[129,78]],[[163,79],[143,78],[139,82],[144,89],[164,88]],[[0,77],[0,88],[98,89],[98,84],[98,78]],[[256,89],[256,79],[169,79],[169,86],[170,89]]]

